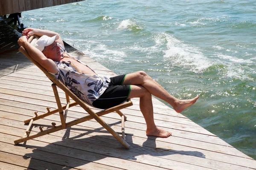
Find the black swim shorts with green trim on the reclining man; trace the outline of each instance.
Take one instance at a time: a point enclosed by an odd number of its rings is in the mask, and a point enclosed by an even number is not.
[[[111,82],[104,93],[93,102],[93,106],[100,109],[112,108],[127,100],[131,85],[122,85],[126,75],[111,77]]]

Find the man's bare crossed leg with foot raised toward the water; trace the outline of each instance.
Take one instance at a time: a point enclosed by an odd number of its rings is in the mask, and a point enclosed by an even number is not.
[[[193,105],[199,96],[193,99],[180,100],[170,95],[161,85],[155,82],[148,74],[144,71],[138,71],[136,73],[127,74],[123,85],[141,85],[152,95],[163,99],[168,102],[177,113],[182,112],[184,109]]]

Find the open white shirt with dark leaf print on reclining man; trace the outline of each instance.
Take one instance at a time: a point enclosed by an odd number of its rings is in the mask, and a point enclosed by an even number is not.
[[[65,52],[64,46],[61,44],[59,46],[61,52]],[[69,58],[75,59],[85,65],[73,56],[69,55]],[[102,95],[111,81],[108,77],[79,73],[70,61],[60,61],[55,62],[55,64],[58,67],[58,73],[53,75],[70,89],[73,94],[79,97],[79,99],[90,105]],[[85,66],[88,67],[87,65]]]

